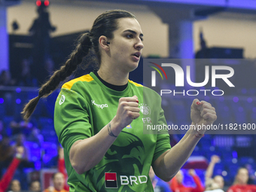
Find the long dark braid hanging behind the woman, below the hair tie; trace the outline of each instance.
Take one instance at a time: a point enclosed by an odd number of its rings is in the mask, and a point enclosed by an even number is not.
[[[74,72],[78,65],[81,64],[84,56],[87,56],[91,47],[92,42],[90,40],[90,34],[88,32],[84,33],[78,40],[77,47],[75,47],[75,50],[71,53],[70,58],[66,61],[65,65],[61,66],[59,70],[53,73],[49,81],[41,86],[38,96],[31,99],[23,108],[21,113],[24,114],[25,120],[28,120],[33,111],[35,111],[35,107],[41,97],[49,96],[50,93],[53,93],[53,91],[56,90],[61,81],[64,81],[67,77],[72,75],[72,72]]]

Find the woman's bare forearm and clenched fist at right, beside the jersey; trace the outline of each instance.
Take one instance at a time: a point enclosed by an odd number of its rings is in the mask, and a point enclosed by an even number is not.
[[[199,102],[198,99],[194,99],[191,105],[190,116],[194,126],[197,124],[211,125],[217,119],[215,108],[208,102]],[[201,138],[201,134],[205,131],[188,130],[178,144],[154,161],[153,168],[156,175],[163,181],[172,179],[190,157]]]

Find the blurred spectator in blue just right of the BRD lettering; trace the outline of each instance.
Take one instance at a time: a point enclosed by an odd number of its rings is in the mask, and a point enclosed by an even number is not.
[[[149,170],[149,178],[151,178],[151,183],[154,188],[154,192],[170,192],[169,185],[162,181],[160,178],[157,178],[157,176],[154,174],[154,170],[151,166],[151,169]]]

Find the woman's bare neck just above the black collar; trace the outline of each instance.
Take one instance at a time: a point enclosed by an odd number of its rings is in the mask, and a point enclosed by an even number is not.
[[[99,68],[98,75],[108,84],[119,86],[127,84],[129,77],[128,72],[121,72],[120,69],[105,68],[103,66]]]

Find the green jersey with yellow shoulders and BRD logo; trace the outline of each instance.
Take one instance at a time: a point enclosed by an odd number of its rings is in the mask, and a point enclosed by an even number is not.
[[[99,133],[117,113],[121,97],[138,96],[140,116],[126,126],[92,169],[79,175],[69,161],[73,143]],[[128,82],[123,91],[106,87],[93,74],[62,86],[56,99],[54,126],[64,148],[70,191],[154,191],[148,172],[169,150],[168,134],[145,134],[143,127],[166,124],[161,98],[153,90]]]

